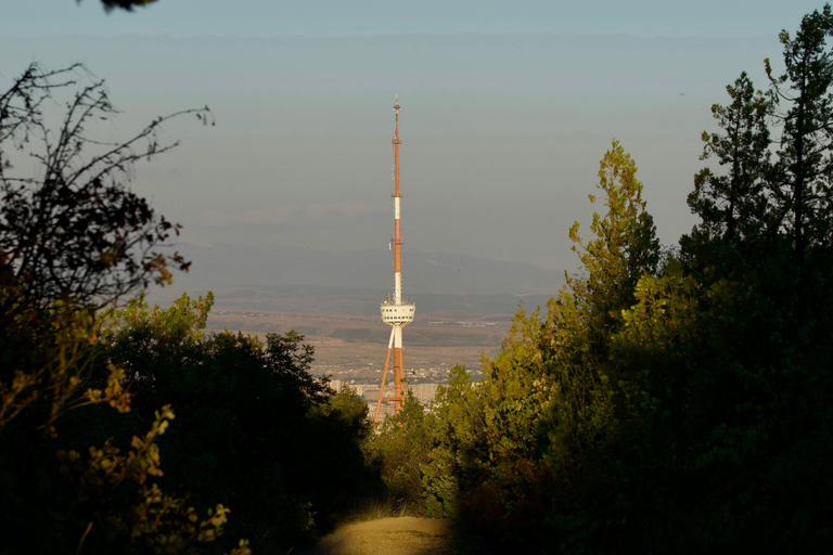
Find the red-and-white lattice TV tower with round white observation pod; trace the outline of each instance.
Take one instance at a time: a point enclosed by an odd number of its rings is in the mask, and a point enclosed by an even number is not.
[[[382,371],[382,385],[379,389],[379,402],[376,403],[376,415],[373,422],[379,421],[379,411],[382,408],[382,401],[394,402],[394,414],[399,414],[405,403],[405,367],[402,362],[402,327],[413,322],[413,313],[416,305],[406,302],[402,297],[402,237],[399,229],[399,202],[402,197],[399,191],[399,145],[402,140],[399,139],[399,95],[396,96],[394,104],[396,114],[396,129],[394,131],[394,238],[390,240],[388,247],[394,251],[394,299],[387,299],[382,302],[382,321],[392,327],[390,340],[387,343],[387,357],[385,358],[385,369]],[[385,378],[387,377],[388,363],[390,362],[390,352],[394,353],[394,397],[384,397]]]

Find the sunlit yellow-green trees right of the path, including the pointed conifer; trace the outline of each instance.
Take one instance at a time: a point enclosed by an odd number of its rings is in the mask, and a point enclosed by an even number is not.
[[[568,276],[546,314],[518,310],[476,387],[452,375],[435,401],[424,467],[430,507],[456,511],[500,548],[578,548],[633,507],[636,488],[606,504],[597,492],[621,489],[608,457],[641,410],[631,400],[639,376],[617,357],[614,336],[659,259],[636,171],[614,141],[597,185],[606,211],[593,215],[590,241],[578,223],[569,232],[585,274]]]

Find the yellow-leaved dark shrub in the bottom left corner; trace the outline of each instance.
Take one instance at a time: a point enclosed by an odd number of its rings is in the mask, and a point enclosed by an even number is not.
[[[3,351],[14,365],[0,384],[0,552],[203,553],[222,533],[228,509],[217,505],[201,520],[185,498],[159,488],[157,439],[172,411],[156,412],[150,431],[126,447],[79,426],[127,417],[125,372],[95,358],[90,311],[64,306],[49,315],[53,331],[31,344],[37,354]],[[232,552],[248,553],[245,541]]]

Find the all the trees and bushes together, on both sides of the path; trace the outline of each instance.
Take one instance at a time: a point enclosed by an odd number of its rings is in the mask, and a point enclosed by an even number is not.
[[[144,302],[187,264],[128,188],[166,118],[98,142],[102,83],[29,67],[0,94],[0,554],[286,552],[369,493],[454,516],[473,553],[830,551],[832,34],[808,14],[782,75],[727,87],[678,245],[614,140],[580,273],[518,307],[480,382],[456,366],[375,430],[303,336]]]

